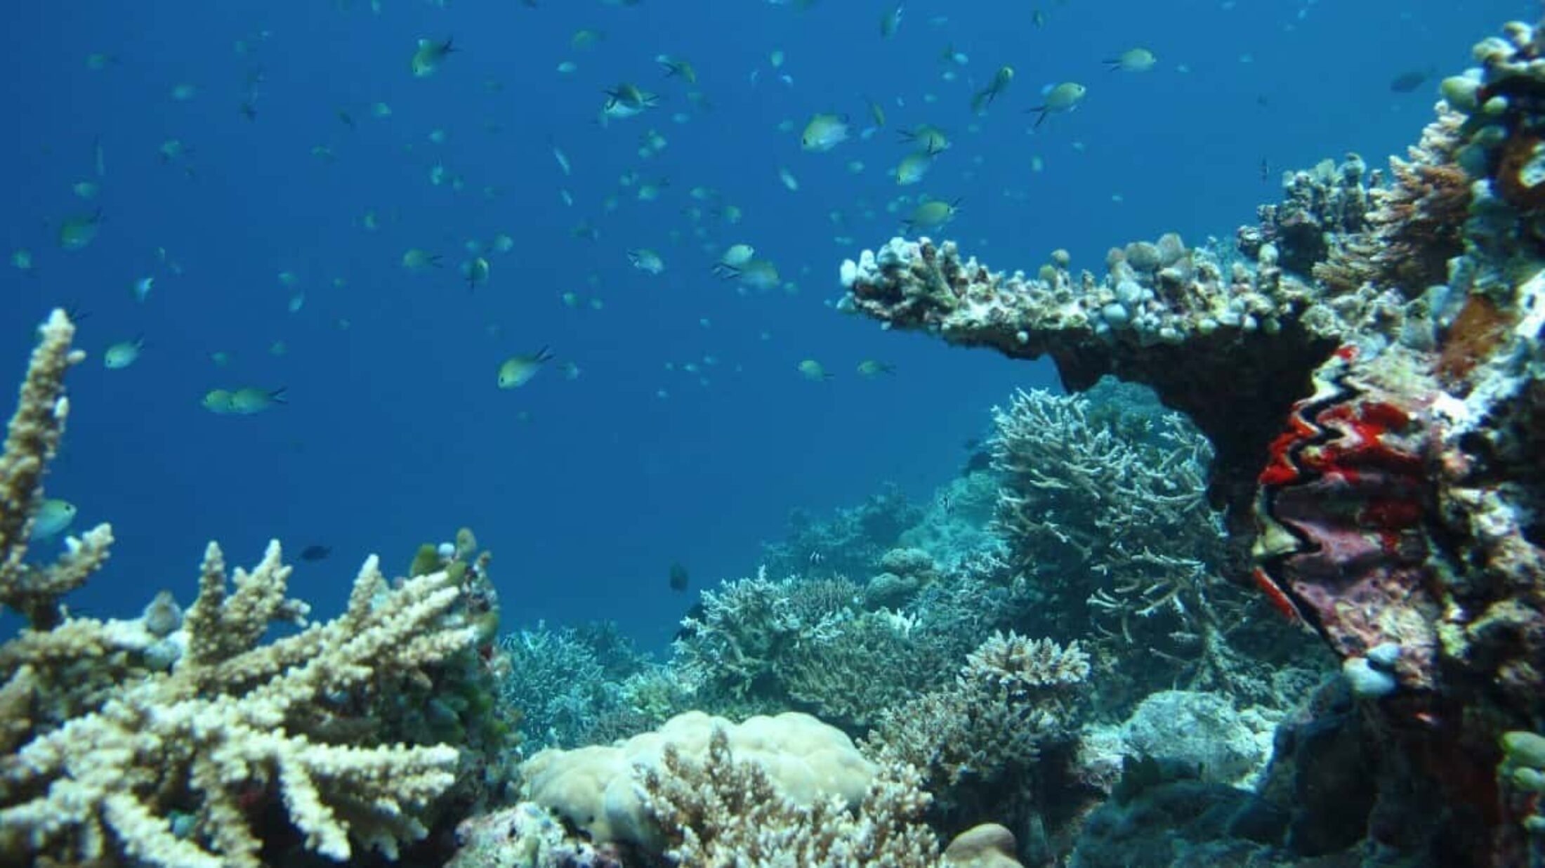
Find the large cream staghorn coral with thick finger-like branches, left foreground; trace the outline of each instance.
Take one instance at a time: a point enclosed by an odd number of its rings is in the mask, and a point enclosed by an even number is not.
[[[286,598],[278,544],[252,571],[236,570],[233,587],[210,544],[198,599],[165,636],[185,649],[170,670],[145,653],[175,624],[164,612],[68,618],[59,596],[105,559],[111,531],[70,541],[51,567],[23,558],[68,411],[71,338],[56,310],[0,459],[0,593],[29,619],[0,646],[0,860],[258,866],[266,840],[250,808],[270,794],[306,848],[346,859],[358,842],[394,856],[425,834],[417,811],[454,783],[457,751],[331,734],[351,729],[341,709],[383,676],[423,678],[422,667],[471,644],[474,632],[450,613],[459,588],[445,571],[388,588],[371,558],[341,616],[261,644],[272,622],[304,616]],[[82,675],[85,687],[59,681]]]

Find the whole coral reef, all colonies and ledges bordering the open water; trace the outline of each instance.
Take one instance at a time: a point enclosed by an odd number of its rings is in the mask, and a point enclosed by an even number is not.
[[[1012,395],[932,508],[799,516],[664,663],[496,639],[470,531],[332,621],[277,542],[71,613],[113,534],[29,559],[56,312],[0,457],[0,863],[1545,865],[1545,29],[1475,59],[1233,244],[844,263],[845,310],[1082,394]]]

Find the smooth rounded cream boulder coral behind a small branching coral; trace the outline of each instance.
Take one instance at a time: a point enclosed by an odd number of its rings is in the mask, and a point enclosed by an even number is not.
[[[878,771],[847,734],[806,714],[757,715],[737,724],[686,712],[616,744],[538,752],[521,766],[524,797],[556,811],[593,840],[658,851],[663,836],[638,795],[633,769],[658,769],[667,744],[701,763],[714,729],[725,731],[739,760],[760,765],[799,805],[831,795],[856,805]]]

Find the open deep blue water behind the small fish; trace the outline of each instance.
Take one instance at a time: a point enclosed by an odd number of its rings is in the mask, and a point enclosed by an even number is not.
[[[691,599],[667,588],[674,561],[701,587],[752,571],[794,507],[856,504],[885,480],[927,497],[989,406],[1054,383],[1046,363],[833,309],[837,264],[899,233],[913,202],[891,213],[898,196],[958,198],[935,235],[998,269],[1034,270],[1066,247],[1098,270],[1106,247],[1170,230],[1227,242],[1282,170],[1349,150],[1383,164],[1469,45],[1534,6],[907,2],[882,39],[885,3],[840,0],[31,3],[0,34],[0,242],[34,258],[0,273],[0,360],[20,375],[49,307],[88,314],[91,358],[71,375],[48,493],[77,504],[77,528],[114,525],[111,565],[77,595],[91,610],[138,610],[159,587],[187,601],[205,541],[250,564],[278,537],[292,554],[332,547],[292,581],[326,613],[366,553],[402,570],[419,542],[470,525],[494,553],[507,622],[613,618],[658,644]],[[581,28],[604,36],[575,49]],[[419,39],[456,48],[422,79]],[[969,62],[942,62],[946,46]],[[1157,66],[1106,71],[1132,46]],[[666,77],[661,53],[691,60],[697,85]],[[559,73],[564,60],[576,71]],[[973,116],[972,93],[1001,65],[1012,86]],[[1392,90],[1406,73],[1426,80]],[[1083,105],[1032,130],[1024,110],[1063,80],[1088,85]],[[618,82],[657,91],[658,108],[596,124]],[[175,99],[184,83],[192,96]],[[887,127],[864,139],[870,99]],[[853,137],[802,151],[816,113],[847,114]],[[898,130],[924,122],[953,147],[898,187]],[[647,130],[669,144],[644,158]],[[168,139],[185,154],[162,159]],[[464,187],[433,184],[436,165]],[[637,182],[620,184],[629,173],[667,185],[638,201]],[[80,181],[94,199],[71,190]],[[97,236],[62,250],[60,224],[97,209]],[[582,221],[595,239],[572,233]],[[485,253],[491,276],[468,289],[467,242],[497,233],[513,249]],[[786,286],[739,293],[715,278],[735,242]],[[443,267],[408,272],[411,247]],[[638,247],[664,272],[630,267]],[[138,301],[142,276],[156,280]],[[138,335],[141,358],[105,369],[102,351]],[[502,360],[542,346],[547,369],[496,388]],[[865,358],[895,375],[857,375]],[[831,378],[802,377],[802,360]],[[243,386],[284,388],[286,402],[253,415],[199,403]]]

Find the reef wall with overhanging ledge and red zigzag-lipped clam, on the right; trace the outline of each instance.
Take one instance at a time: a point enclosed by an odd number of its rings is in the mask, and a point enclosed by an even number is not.
[[[1355,156],[1293,173],[1238,256],[1165,236],[1027,278],[924,238],[842,275],[848,310],[1187,412],[1230,564],[1250,553],[1381,734],[1370,846],[1511,865],[1497,744],[1545,720],[1545,31],[1474,56],[1389,182]]]

